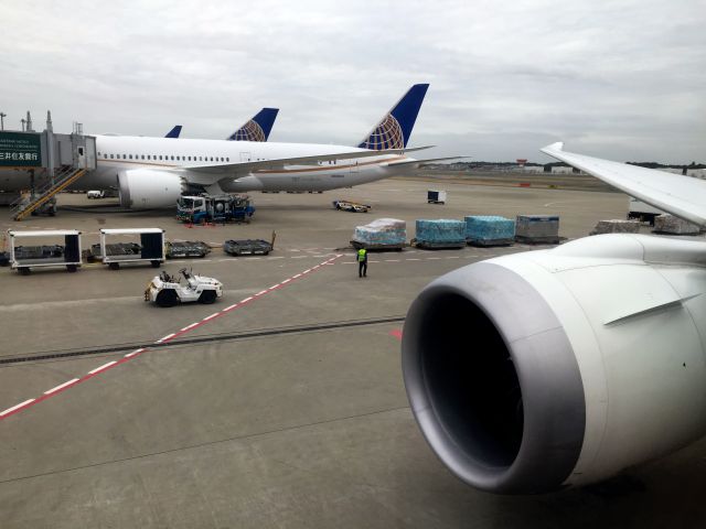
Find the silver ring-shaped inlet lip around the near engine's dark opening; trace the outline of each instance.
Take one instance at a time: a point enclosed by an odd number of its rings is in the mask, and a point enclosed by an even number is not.
[[[425,379],[420,323],[439,296],[460,295],[499,331],[518,378],[524,411],[520,450],[510,465],[484,464],[447,432]],[[576,466],[586,429],[584,386],[573,347],[536,289],[512,270],[480,262],[427,287],[409,309],[403,373],[415,419],[437,456],[462,481],[504,494],[559,488]]]

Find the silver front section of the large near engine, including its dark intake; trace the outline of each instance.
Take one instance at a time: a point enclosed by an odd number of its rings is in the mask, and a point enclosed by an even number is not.
[[[493,493],[561,487],[584,443],[584,386],[528,282],[488,262],[439,278],[410,306],[402,349],[414,415],[456,475]]]

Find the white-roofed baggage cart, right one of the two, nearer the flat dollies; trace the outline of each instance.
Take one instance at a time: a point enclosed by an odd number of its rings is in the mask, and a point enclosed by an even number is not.
[[[140,244],[118,242],[110,245],[107,237],[139,236]],[[128,250],[126,250],[126,248]],[[162,228],[128,228],[100,230],[100,260],[111,270],[118,270],[125,262],[149,262],[158,268],[164,262],[164,230]]]

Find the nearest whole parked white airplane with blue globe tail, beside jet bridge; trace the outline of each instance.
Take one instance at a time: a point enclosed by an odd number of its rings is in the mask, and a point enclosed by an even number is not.
[[[325,191],[413,171],[406,149],[428,85],[415,85],[361,144],[180,140],[97,136],[97,169],[75,187],[116,186],[124,207],[173,205],[182,192]]]

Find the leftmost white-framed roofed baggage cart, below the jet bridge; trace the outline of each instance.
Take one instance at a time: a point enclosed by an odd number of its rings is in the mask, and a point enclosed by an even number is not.
[[[31,268],[66,267],[75,272],[81,267],[81,231],[76,229],[47,229],[41,231],[17,231],[8,229],[10,236],[10,267],[23,276]],[[63,237],[63,245],[18,245],[19,241],[40,237]]]

